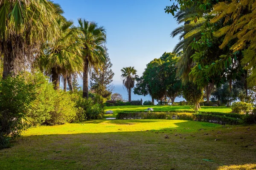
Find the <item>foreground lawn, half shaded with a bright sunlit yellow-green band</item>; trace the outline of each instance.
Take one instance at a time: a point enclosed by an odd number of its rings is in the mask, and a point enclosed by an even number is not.
[[[27,130],[0,150],[0,169],[249,170],[256,168],[255,140],[256,125],[92,120]]]

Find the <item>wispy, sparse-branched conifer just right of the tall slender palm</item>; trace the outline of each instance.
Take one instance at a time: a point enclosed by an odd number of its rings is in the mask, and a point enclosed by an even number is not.
[[[113,90],[112,82],[115,74],[111,70],[111,67],[111,60],[108,54],[106,54],[106,61],[102,65],[102,68],[98,69],[98,74],[96,71],[93,71],[90,77],[90,89],[104,98],[110,98]]]

